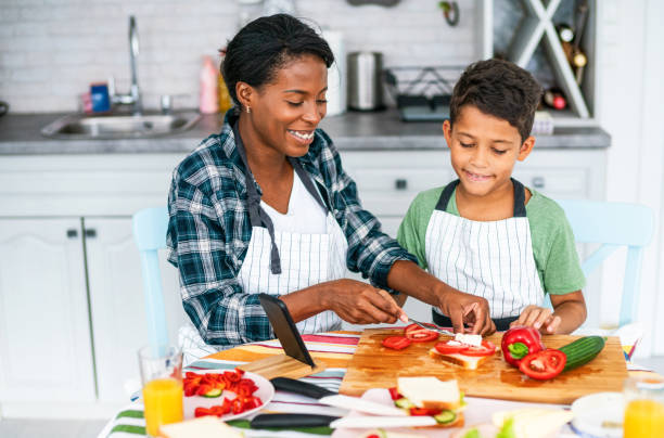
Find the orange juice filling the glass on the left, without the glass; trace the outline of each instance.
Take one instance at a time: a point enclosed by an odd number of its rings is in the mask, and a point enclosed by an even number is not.
[[[143,386],[145,431],[156,437],[162,424],[182,421],[182,382],[156,378]]]

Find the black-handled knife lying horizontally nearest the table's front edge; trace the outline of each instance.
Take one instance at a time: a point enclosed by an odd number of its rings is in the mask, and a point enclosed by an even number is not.
[[[391,427],[419,427],[435,426],[433,416],[330,416],[318,414],[259,414],[250,423],[255,429],[263,428],[293,428],[293,427],[331,427],[336,428],[391,428]]]

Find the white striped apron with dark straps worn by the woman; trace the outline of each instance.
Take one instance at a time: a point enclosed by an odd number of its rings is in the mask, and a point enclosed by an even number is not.
[[[237,129],[234,133],[238,150],[247,169],[247,202],[252,222],[252,239],[238,274],[243,291],[246,294],[285,295],[346,276],[346,236],[302,165],[289,158],[304,186],[327,211],[324,234],[281,232],[273,229],[271,219],[260,207],[260,196],[252,183],[254,177],[246,164],[244,146]],[[333,311],[327,310],[296,325],[304,334],[329,332],[341,328],[341,319]],[[178,342],[186,364],[232,347],[205,344],[191,322],[180,327]]]

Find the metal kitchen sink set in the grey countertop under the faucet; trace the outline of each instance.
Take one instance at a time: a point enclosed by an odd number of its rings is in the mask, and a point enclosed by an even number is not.
[[[56,139],[136,139],[182,132],[199,121],[196,112],[171,114],[88,116],[73,114],[61,117],[41,129]]]

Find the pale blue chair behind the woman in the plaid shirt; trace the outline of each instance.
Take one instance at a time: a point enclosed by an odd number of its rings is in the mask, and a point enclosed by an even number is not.
[[[168,210],[166,207],[142,209],[133,215],[132,226],[141,256],[148,339],[153,348],[161,348],[168,344],[168,327],[157,250],[166,247]]]

